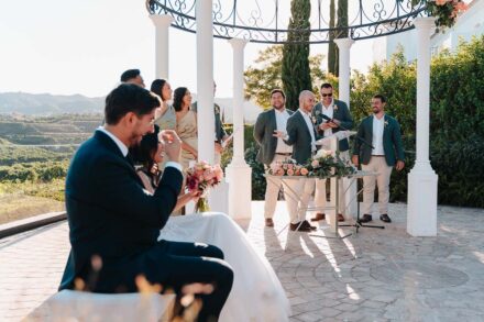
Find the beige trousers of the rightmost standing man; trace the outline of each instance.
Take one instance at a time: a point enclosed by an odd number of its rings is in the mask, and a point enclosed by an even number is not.
[[[377,176],[363,177],[363,208],[362,214],[372,214],[372,206],[375,199],[375,181],[378,187],[380,214],[388,213],[389,177],[393,167],[388,166],[385,156],[372,156],[367,165],[362,165],[364,171],[376,171]]]

